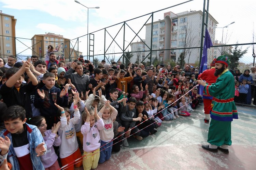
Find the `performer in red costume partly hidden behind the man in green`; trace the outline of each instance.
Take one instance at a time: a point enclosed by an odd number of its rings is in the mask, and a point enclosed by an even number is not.
[[[210,69],[204,70],[202,72],[202,74],[198,75],[198,80],[200,80],[200,78],[201,78],[209,85],[216,82],[218,77],[216,77],[214,75],[215,62],[216,62],[216,58],[214,58],[214,60],[212,61],[211,65],[210,65],[211,66]],[[209,123],[209,120],[210,120],[210,111],[211,111],[211,107],[212,107],[211,104],[212,104],[212,96],[207,95],[203,91],[203,105],[204,105],[204,114],[205,114],[204,122],[205,123]]]

